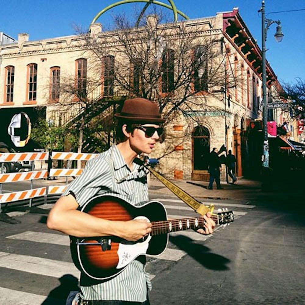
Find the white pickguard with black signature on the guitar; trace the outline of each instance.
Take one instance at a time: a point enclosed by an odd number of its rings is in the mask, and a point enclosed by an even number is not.
[[[145,216],[138,216],[135,219],[145,219],[149,222],[149,219]],[[151,238],[152,237],[149,234],[143,242],[137,242],[132,245],[119,244],[119,249],[117,251],[119,257],[117,269],[124,268],[139,255],[146,254]]]

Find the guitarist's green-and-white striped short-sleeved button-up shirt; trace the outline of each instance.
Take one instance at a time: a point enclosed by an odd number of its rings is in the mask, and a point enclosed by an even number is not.
[[[132,171],[116,145],[87,162],[84,172],[71,182],[63,193],[74,194],[82,206],[91,197],[100,194],[118,196],[133,205],[148,201],[146,172],[135,159]],[[85,300],[122,300],[144,302],[147,289],[151,289],[149,274],[138,260],[132,261],[120,274],[91,286],[82,286]]]

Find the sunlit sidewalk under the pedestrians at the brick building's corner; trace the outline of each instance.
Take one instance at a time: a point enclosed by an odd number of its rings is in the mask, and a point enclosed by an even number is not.
[[[289,191],[289,188],[273,189],[270,191],[263,191],[261,189],[261,182],[255,180],[249,180],[240,178],[237,184],[229,184],[222,181],[221,187],[223,189],[216,189],[214,183],[214,189],[208,189],[208,181],[194,181],[194,180],[173,180],[171,181],[185,192],[193,197],[199,199],[233,199],[233,200],[249,200],[249,201],[263,201],[263,202],[283,202],[285,200],[297,200],[302,196],[302,192],[293,190]],[[165,187],[159,180],[152,177],[149,183],[149,190],[153,192],[160,192],[162,194],[175,196],[167,187]]]

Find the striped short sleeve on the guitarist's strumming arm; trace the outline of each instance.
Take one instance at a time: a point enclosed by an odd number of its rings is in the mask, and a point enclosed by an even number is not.
[[[112,189],[112,175],[109,163],[96,157],[89,160],[83,173],[72,181],[63,196],[73,194],[77,203],[82,206],[97,193],[103,194]]]

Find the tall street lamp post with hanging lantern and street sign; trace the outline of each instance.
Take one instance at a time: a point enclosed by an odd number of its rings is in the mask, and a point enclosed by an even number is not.
[[[280,20],[271,20],[265,18],[265,1],[262,1],[262,7],[259,12],[262,13],[262,69],[263,69],[263,123],[264,123],[264,146],[263,146],[263,167],[267,169],[269,167],[269,147],[268,147],[268,133],[267,133],[267,93],[266,93],[266,40],[267,40],[267,30],[272,23],[277,23],[276,33],[274,38],[277,42],[281,42],[283,39],[282,27]]]

